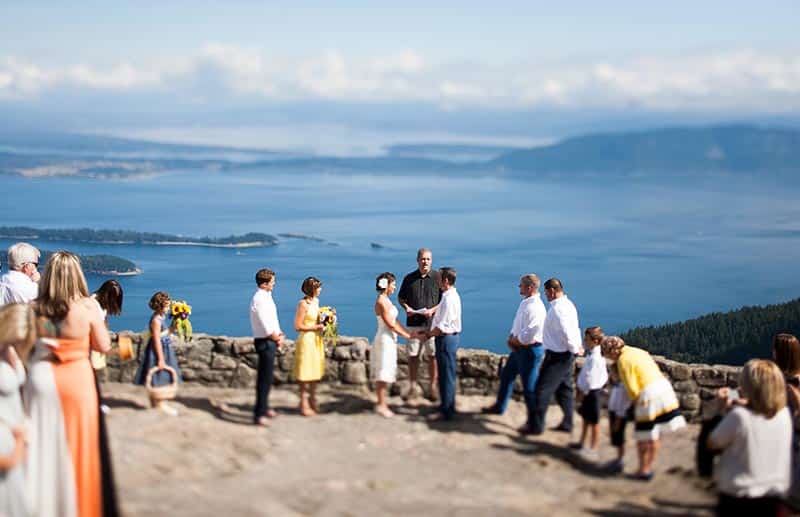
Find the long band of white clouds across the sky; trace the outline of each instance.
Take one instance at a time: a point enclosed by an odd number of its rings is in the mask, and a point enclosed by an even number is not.
[[[729,50],[626,60],[434,64],[412,50],[350,59],[336,50],[288,59],[259,49],[210,43],[197,54],[111,67],[47,67],[0,57],[0,99],[36,99],[70,88],[121,95],[257,106],[334,100],[423,102],[447,109],[639,106],[663,110],[800,109],[800,55]]]

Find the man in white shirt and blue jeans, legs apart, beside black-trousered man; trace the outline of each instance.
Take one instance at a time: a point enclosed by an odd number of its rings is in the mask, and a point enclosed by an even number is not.
[[[539,277],[531,273],[520,278],[519,294],[522,295],[522,301],[516,316],[514,316],[511,333],[506,340],[511,352],[500,373],[497,401],[491,406],[483,408],[484,413],[502,415],[505,412],[517,375],[522,377],[528,413],[533,410],[533,390],[539,374],[539,365],[544,358],[542,328],[546,315],[544,303],[539,296]]]

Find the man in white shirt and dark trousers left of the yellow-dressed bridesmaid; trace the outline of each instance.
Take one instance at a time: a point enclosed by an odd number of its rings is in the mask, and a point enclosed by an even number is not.
[[[283,345],[283,332],[278,322],[278,309],[272,299],[275,272],[270,269],[260,269],[256,273],[256,285],[258,289],[250,302],[250,327],[253,330],[253,343],[258,354],[253,423],[267,426],[268,419],[275,417],[275,411],[269,407],[269,391],[272,387],[275,353]]]

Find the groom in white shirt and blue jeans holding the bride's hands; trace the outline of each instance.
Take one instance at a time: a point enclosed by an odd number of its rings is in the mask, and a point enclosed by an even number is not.
[[[461,333],[461,298],[456,291],[456,270],[439,270],[442,296],[431,320],[431,330],[419,332],[420,339],[433,336],[436,343],[436,365],[439,370],[439,413],[431,420],[451,420],[456,412],[456,351]]]

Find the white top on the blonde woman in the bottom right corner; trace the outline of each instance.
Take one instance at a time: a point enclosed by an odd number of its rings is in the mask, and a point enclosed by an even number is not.
[[[709,437],[724,448],[714,469],[717,488],[735,497],[782,495],[789,489],[792,420],[787,408],[774,417],[738,406]]]

